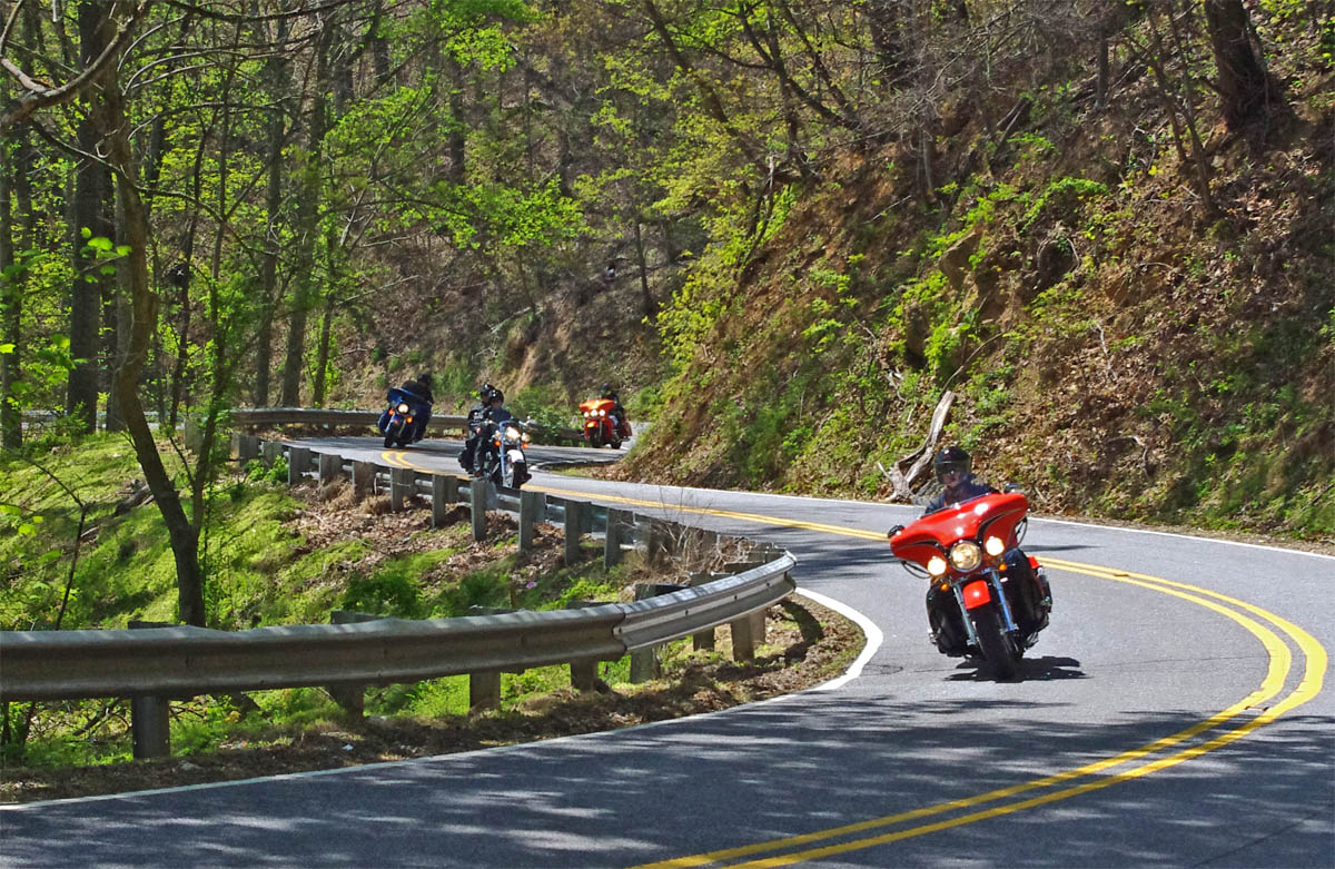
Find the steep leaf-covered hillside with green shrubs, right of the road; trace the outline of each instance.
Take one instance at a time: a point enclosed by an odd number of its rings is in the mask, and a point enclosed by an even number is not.
[[[1335,81],[1284,36],[1286,108],[1231,131],[1204,95],[1203,167],[1132,63],[1103,107],[1017,93],[1004,136],[952,105],[929,199],[905,147],[845,155],[665,311],[626,474],[888,497],[951,391],[943,439],[1040,510],[1335,535]]]

